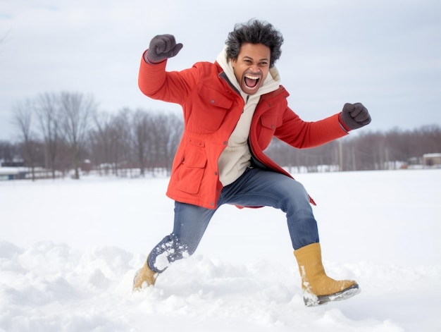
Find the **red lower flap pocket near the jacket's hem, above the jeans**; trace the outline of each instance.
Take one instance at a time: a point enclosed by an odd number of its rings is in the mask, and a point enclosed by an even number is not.
[[[201,187],[206,166],[206,155],[203,152],[194,152],[182,158],[178,170],[176,189],[189,194],[197,194]]]

